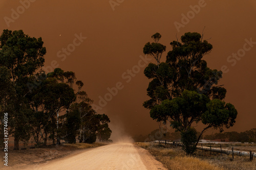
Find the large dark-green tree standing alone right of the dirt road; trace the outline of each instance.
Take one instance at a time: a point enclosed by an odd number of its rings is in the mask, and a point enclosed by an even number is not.
[[[212,45],[199,33],[188,32],[181,36],[181,42],[170,42],[173,50],[168,52],[166,62],[155,57],[165,51],[158,42],[161,35],[156,33],[152,38],[155,45],[146,43],[143,52],[153,56],[157,64],[150,63],[144,70],[145,76],[151,79],[147,88],[151,99],[143,106],[151,110],[150,115],[157,122],[169,121],[173,128],[182,132],[182,140],[187,143],[184,150],[191,154],[207,129],[223,131],[223,127],[233,126],[237,110],[223,101],[226,89],[218,86],[222,71],[210,69],[202,59],[210,53]],[[205,128],[195,139],[193,124],[199,122]]]

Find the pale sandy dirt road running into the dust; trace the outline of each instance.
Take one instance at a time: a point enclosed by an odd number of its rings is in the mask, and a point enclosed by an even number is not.
[[[131,170],[164,169],[148,151],[132,143],[110,144],[26,169]]]

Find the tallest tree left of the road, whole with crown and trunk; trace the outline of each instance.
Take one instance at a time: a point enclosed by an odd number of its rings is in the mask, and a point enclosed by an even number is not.
[[[29,37],[22,30],[4,30],[0,36],[0,66],[10,71],[15,98],[9,107],[10,133],[14,136],[14,149],[19,149],[18,142],[27,138],[28,117],[31,110],[25,96],[29,92],[27,83],[41,66],[44,65],[46,48],[41,38]]]

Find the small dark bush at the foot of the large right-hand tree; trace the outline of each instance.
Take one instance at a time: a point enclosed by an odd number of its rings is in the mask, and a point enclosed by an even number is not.
[[[181,131],[182,149],[189,155],[193,154],[197,147],[197,131],[195,128],[188,128],[187,130]]]

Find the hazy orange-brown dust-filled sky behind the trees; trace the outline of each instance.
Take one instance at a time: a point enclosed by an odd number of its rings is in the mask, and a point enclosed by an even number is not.
[[[128,83],[122,75],[135,69],[154,33],[159,32],[160,43],[167,46],[163,62],[176,34],[180,38],[185,32],[202,33],[205,27],[204,38],[214,48],[204,60],[211,69],[226,66],[220,84],[227,89],[225,102],[238,110],[237,123],[228,131],[256,128],[255,0],[1,0],[0,18],[1,32],[22,29],[31,37],[42,37],[47,48],[45,66],[55,62],[53,66],[74,71],[94,104],[99,105],[99,96],[104,98],[108,88],[121,82],[122,89],[97,112],[109,115],[112,129],[131,135],[147,134],[158,126],[142,106],[148,99],[145,67],[137,69]],[[243,57],[229,57],[237,53]]]

